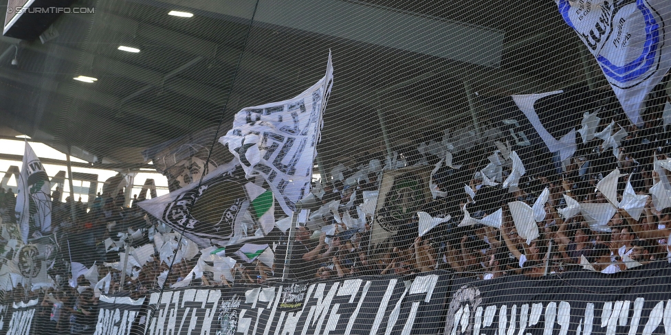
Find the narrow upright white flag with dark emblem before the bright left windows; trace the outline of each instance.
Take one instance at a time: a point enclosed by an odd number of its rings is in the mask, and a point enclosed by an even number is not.
[[[31,215],[30,208],[34,208]],[[52,229],[52,198],[51,183],[40,159],[32,151],[28,142],[25,143],[23,165],[19,174],[17,188],[17,207],[14,209],[17,223],[21,227],[21,239],[28,244],[28,235],[32,227],[42,233],[50,233]]]

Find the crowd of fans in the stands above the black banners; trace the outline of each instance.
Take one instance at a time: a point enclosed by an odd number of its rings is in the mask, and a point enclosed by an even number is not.
[[[362,211],[357,210],[364,203],[364,192],[380,189],[384,173],[382,167],[366,170],[371,166],[371,157],[366,157],[368,159],[361,161],[358,167],[343,170],[342,176],[331,178],[322,187],[314,187],[320,190],[320,205],[336,202],[338,213],[357,218],[363,222],[362,226],[347,227],[333,216],[324,216],[318,219],[322,220],[320,224],[301,224],[288,231],[276,228],[269,234],[276,241],[272,264],[258,258],[252,262],[239,261],[230,267],[230,273],[204,270],[203,275],[190,278],[189,285],[265,284],[285,278],[318,281],[364,275],[411,275],[432,270],[452,270],[459,276],[479,279],[511,274],[541,277],[582,268],[612,274],[650,262],[667,262],[671,207],[658,211],[650,196],[639,220],[633,219],[624,209],[617,209],[607,228],[594,229],[580,213],[571,218],[558,213],[567,205],[564,196],[578,203],[607,203],[595,185],[616,167],[624,174],[617,183],[619,199],[628,180],[632,181],[637,194],[650,194],[652,185],[668,178],[668,170],[654,166],[655,159],[663,161],[668,159],[666,154],[671,153],[670,132],[666,131],[661,113],[661,107],[653,106],[643,127],[624,127],[628,136],[621,141],[617,155],[604,150],[604,141],[599,138],[580,144],[573,157],[564,162],[558,162],[551,154],[539,153],[533,168],[520,178],[516,189],[493,185],[483,176],[481,170],[487,157],[496,150],[491,141],[478,141],[467,150],[454,152],[454,162],[461,165],[458,168],[455,164],[441,164],[437,154],[419,152],[415,148],[400,149],[397,152],[400,158],[393,168],[437,165],[432,180],[435,189],[445,195],[427,199],[421,207],[409,209],[404,218],[396,222],[395,235],[385,240],[373,236],[373,216],[360,217]],[[599,117],[599,131],[611,121],[623,126],[628,124],[623,117],[600,114]],[[580,124],[565,126],[579,128]],[[500,137],[498,140],[505,142],[506,139]],[[426,144],[426,141],[418,144]],[[379,158],[384,161],[384,157]],[[511,165],[503,164],[502,178],[509,175],[510,169]],[[354,181],[349,178],[362,170],[366,173],[358,174],[360,178]],[[659,172],[665,175],[660,176]],[[476,194],[476,201],[464,191],[463,185]],[[537,222],[539,236],[531,241],[524,240],[518,234],[507,204],[522,201],[533,205],[546,188],[549,198],[544,203],[545,216]],[[38,296],[37,291],[24,290],[19,284],[10,292],[4,292],[4,300],[25,301],[41,297],[43,310],[39,317],[44,319],[41,324],[51,327],[57,334],[87,332],[96,322],[99,294],[84,277],[72,279],[71,262],[88,267],[95,262],[104,269],[100,270],[101,274],[110,273],[110,292],[126,292],[133,298],[184,281],[199,262],[199,257],[181,257],[178,262],[168,264],[161,260],[161,250],[156,248],[153,257],[134,273],[125,273],[115,266],[103,267],[102,264],[120,262],[123,252],[123,249],[110,252],[106,240],[118,240],[120,233],[142,229],[142,242],[149,244],[151,231],[160,231],[162,224],[148,219],[137,206],[138,200],[125,206],[123,192],[98,194],[89,204],[82,203],[81,199],[73,204],[72,198],[66,198],[62,203],[58,188],[52,196],[52,227],[60,250],[60,261],[52,262],[49,269],[54,286],[43,288]],[[15,203],[12,189],[6,192],[0,189],[3,222],[12,222]],[[482,224],[459,227],[465,206],[473,218],[484,218],[502,209],[500,228]],[[417,211],[433,217],[450,215],[452,219],[420,236]],[[8,227],[11,226],[5,224],[5,229],[10,229]],[[325,227],[334,229],[327,231]],[[164,233],[170,232],[165,226],[162,229]],[[17,231],[9,234],[14,238],[18,236]],[[7,238],[3,235],[2,242],[6,244]],[[177,249],[183,241],[181,238],[177,240]],[[226,253],[228,255],[229,250]],[[5,256],[9,257],[6,250]],[[5,258],[5,262],[9,259]],[[287,264],[286,269],[284,264]],[[76,287],[69,285],[72,280],[77,282]]]

